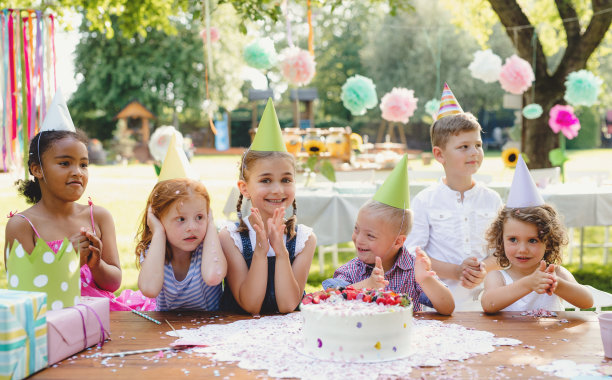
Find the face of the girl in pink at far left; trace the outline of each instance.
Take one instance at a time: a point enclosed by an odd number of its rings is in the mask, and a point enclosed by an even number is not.
[[[89,155],[85,144],[65,137],[53,142],[40,159],[42,168],[32,165],[32,173],[41,188],[67,202],[79,200],[89,180]]]

